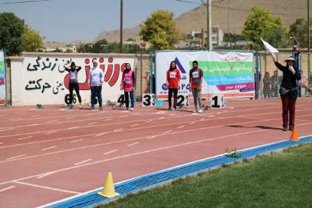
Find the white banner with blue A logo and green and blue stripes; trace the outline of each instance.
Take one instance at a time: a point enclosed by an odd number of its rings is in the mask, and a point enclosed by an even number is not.
[[[189,94],[189,71],[193,60],[202,69],[202,97],[223,94],[227,98],[254,96],[253,54],[216,51],[158,51],[156,53],[156,94],[167,98],[166,71],[171,61],[180,69],[179,94]]]

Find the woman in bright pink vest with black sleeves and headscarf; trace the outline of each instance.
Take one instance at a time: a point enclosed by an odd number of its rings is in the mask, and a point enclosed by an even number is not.
[[[125,64],[125,71],[121,79],[120,89],[125,92],[125,110],[129,110],[129,96],[131,100],[130,111],[135,107],[135,71],[131,69],[129,63]]]

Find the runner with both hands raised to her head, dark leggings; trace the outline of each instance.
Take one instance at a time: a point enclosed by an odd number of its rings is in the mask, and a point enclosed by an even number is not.
[[[76,67],[75,62],[71,62],[70,68],[65,68],[66,71],[69,73],[69,105],[68,108],[73,108],[73,89],[75,89],[76,95],[79,101],[79,108],[83,108],[83,103],[81,103],[81,97],[79,94],[79,84],[78,84],[78,72],[80,71],[81,67]]]

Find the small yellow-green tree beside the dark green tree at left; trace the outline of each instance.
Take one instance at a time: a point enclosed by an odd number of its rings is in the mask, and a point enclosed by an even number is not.
[[[21,41],[23,51],[33,52],[42,49],[43,39],[39,32],[32,30],[27,24],[24,24],[24,33]]]

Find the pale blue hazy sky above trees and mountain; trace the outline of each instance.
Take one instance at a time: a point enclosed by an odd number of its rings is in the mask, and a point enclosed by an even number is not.
[[[51,0],[37,3],[3,4],[26,0],[0,0],[0,12],[14,12],[45,41],[92,41],[101,31],[119,28],[119,0]],[[200,0],[193,0],[200,3]],[[157,9],[170,10],[175,17],[196,8],[174,0],[123,0],[124,27],[140,24]]]

